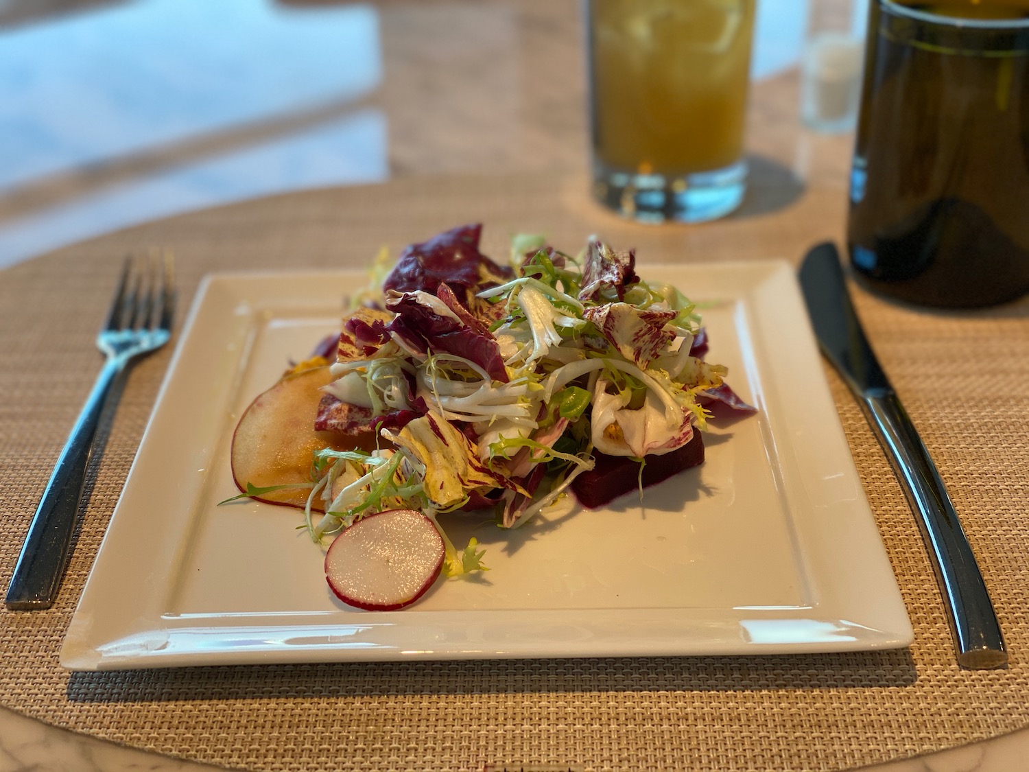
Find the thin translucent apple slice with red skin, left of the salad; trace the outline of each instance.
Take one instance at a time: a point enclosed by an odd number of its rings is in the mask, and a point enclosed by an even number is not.
[[[370,433],[368,436],[342,437],[328,431],[315,431],[318,402],[324,393],[320,388],[330,380],[327,366],[291,373],[250,403],[233,434],[233,477],[241,491],[245,493],[248,484],[270,488],[310,483],[314,452],[322,448],[375,447]],[[303,507],[310,492],[310,488],[283,488],[254,498]]]

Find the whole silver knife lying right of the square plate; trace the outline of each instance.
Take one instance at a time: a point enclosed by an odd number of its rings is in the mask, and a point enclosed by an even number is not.
[[[812,248],[800,278],[822,354],[857,397],[918,515],[947,602],[958,665],[969,670],[1006,665],[1004,638],[975,556],[935,464],[864,337],[836,246]]]

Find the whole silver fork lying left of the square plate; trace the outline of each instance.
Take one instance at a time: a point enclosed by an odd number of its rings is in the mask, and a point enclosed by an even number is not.
[[[141,265],[134,268],[134,262]],[[107,359],[29,525],[7,588],[8,608],[33,610],[54,605],[71,549],[97,427],[111,387],[131,361],[168,343],[174,305],[171,254],[126,259],[107,321],[97,337],[97,347]]]

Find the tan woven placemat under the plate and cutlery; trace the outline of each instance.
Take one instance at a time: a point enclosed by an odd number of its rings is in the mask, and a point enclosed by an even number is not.
[[[758,185],[759,187],[759,180]],[[599,211],[583,180],[415,180],[189,214],[0,272],[0,581],[100,366],[93,339],[121,256],[174,249],[182,310],[210,271],[354,266],[455,224],[575,248],[591,232],[641,259],[799,259],[839,237],[843,191],[761,203],[699,227]],[[769,199],[774,200],[774,197]],[[129,745],[259,770],[837,770],[1029,724],[1029,305],[859,310],[961,511],[1012,651],[1005,670],[953,659],[931,569],[900,489],[843,386],[830,384],[916,631],[907,651],[839,656],[216,667],[70,674],[58,650],[171,350],[133,372],[90,487],[66,585],[43,612],[0,611],[0,702]]]

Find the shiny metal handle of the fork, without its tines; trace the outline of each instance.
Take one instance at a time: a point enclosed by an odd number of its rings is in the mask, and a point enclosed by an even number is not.
[[[104,362],[61,451],[29,525],[29,533],[14,566],[14,575],[7,587],[5,603],[8,608],[38,610],[54,605],[75,532],[78,504],[97,427],[111,386],[125,370],[126,362],[127,359],[119,356]]]

